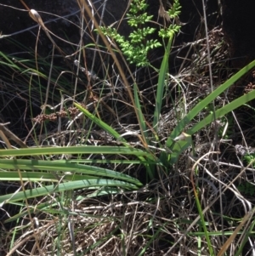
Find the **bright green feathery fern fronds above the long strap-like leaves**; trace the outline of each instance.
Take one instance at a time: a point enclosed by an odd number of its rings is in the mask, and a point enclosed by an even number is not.
[[[119,43],[122,54],[127,57],[127,61],[137,66],[150,65],[147,58],[148,52],[150,49],[161,47],[158,39],[149,39],[150,35],[156,31],[156,28],[150,26],[153,16],[146,13],[147,8],[148,4],[145,3],[145,0],[131,1],[130,9],[127,13],[127,23],[133,28],[133,32],[129,34],[127,39],[111,26],[100,27],[105,36],[111,37],[116,43]],[[168,11],[169,16],[173,19],[176,18],[180,13],[180,8],[178,0],[175,0],[173,8]],[[180,26],[173,24],[165,29],[161,29],[159,36],[169,38],[172,37],[173,32],[176,33],[179,30]]]

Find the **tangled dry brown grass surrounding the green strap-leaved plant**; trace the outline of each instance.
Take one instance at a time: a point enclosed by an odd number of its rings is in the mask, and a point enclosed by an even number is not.
[[[87,5],[86,11],[88,9]],[[86,27],[90,40],[97,43],[99,38],[90,31],[92,23],[86,23],[88,16],[81,16],[81,22],[84,24],[79,26]],[[116,20],[116,23],[121,26],[122,20]],[[208,38],[212,81],[213,86],[217,87],[233,71],[228,67],[227,45],[224,43],[221,29],[214,28],[209,32]],[[178,72],[169,80],[169,92],[165,95],[166,105],[159,123],[161,141],[164,141],[176,126],[176,116],[184,115],[198,100],[210,93],[206,43],[207,38],[200,37],[186,45],[186,49],[190,48],[188,53],[191,51],[193,54],[187,54]],[[91,126],[88,120],[81,117],[80,112],[72,105],[76,100],[101,120],[111,124],[119,133],[131,131],[133,134],[139,134],[139,124],[130,98],[130,84],[132,85],[135,77],[139,76],[147,79],[139,85],[139,93],[144,100],[144,115],[148,122],[151,121],[151,105],[154,104],[156,90],[155,72],[132,72],[125,60],[117,58],[108,62],[108,52],[103,52],[102,48],[97,47],[83,48],[85,44],[81,42],[78,48],[69,54],[71,71],[66,69],[59,73],[54,64],[48,66],[49,70],[53,71],[52,77],[47,74],[46,80],[49,82],[44,82],[45,88],[42,88],[41,93],[36,87],[33,88],[27,74],[21,76],[20,73],[21,87],[10,80],[4,82],[5,77],[1,80],[2,97],[6,105],[8,101],[14,104],[16,97],[24,93],[28,83],[32,91],[26,91],[20,99],[27,101],[27,105],[49,105],[55,109],[54,113],[47,114],[46,108],[42,107],[42,111],[37,111],[33,116],[32,128],[26,129],[26,135],[19,134],[26,137],[28,145],[79,145],[84,141],[91,145],[115,144],[104,131]],[[111,48],[110,43],[105,44]],[[62,50],[65,52],[65,48]],[[92,56],[89,60],[88,55]],[[79,68],[72,65],[73,60],[80,60]],[[91,76],[89,66],[94,66],[94,70],[100,66],[96,77]],[[68,76],[65,77],[65,74]],[[33,81],[34,77],[31,78]],[[142,78],[139,81],[143,80]],[[66,82],[68,79],[71,79],[72,86]],[[54,88],[54,92],[47,88]],[[54,97],[56,88],[63,88],[65,93]],[[18,96],[10,94],[13,90],[18,92]],[[219,107],[228,104],[234,97],[235,92],[224,94],[217,99],[216,105]],[[48,101],[45,98],[48,98]],[[28,102],[29,100],[31,101]],[[13,105],[4,112],[1,122],[11,117],[12,111]],[[26,116],[26,110],[22,111],[20,117]],[[195,122],[206,116],[208,111],[212,110],[201,112]],[[235,230],[239,220],[254,203],[253,196],[241,194],[238,189],[238,185],[242,183],[254,183],[253,169],[244,168],[241,156],[235,154],[235,144],[241,144],[241,141],[245,140],[247,145],[251,145],[253,138],[253,130],[248,127],[250,124],[246,124],[240,115],[233,113],[229,120],[223,118],[219,121],[218,127],[212,124],[196,134],[193,138],[195,156],[191,151],[186,151],[173,166],[170,175],[159,174],[159,179],[152,180],[139,191],[123,191],[122,194],[98,198],[86,197],[87,191],[74,191],[75,195],[48,195],[40,198],[40,202],[52,205],[47,212],[36,208],[37,201],[30,202],[35,207],[31,212],[32,219],[22,216],[18,223],[2,232],[3,252],[6,255],[208,255],[191,179],[195,180],[201,208],[206,209],[204,217],[207,219],[207,230],[216,232],[210,237],[212,247],[218,252],[229,237],[224,235],[223,230]],[[251,115],[253,118],[254,115]],[[48,123],[45,124],[45,121]],[[36,134],[33,131],[36,131]],[[129,143],[142,147],[139,137],[133,134],[127,137]],[[219,138],[215,137],[215,134],[218,134]],[[228,135],[228,139],[224,139],[225,135]],[[209,151],[221,151],[221,154],[207,155]],[[192,167],[195,163],[197,168],[192,178]],[[132,175],[145,184],[143,167],[130,165],[127,168],[121,164],[111,167]],[[6,208],[6,214],[12,216],[15,210]],[[240,245],[243,239],[243,235],[236,236],[235,247]],[[250,243],[252,244],[251,239]],[[231,248],[228,255],[234,255],[234,252],[234,248]],[[245,252],[243,250],[242,255],[246,255]]]

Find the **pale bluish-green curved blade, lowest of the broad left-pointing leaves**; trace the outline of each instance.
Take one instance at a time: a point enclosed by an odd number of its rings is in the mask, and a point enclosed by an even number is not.
[[[25,198],[34,198],[37,196],[47,196],[48,194],[62,191],[72,191],[76,189],[88,189],[95,190],[102,186],[106,187],[122,187],[127,190],[138,190],[139,187],[136,185],[132,185],[127,182],[119,181],[119,180],[111,180],[111,179],[89,179],[89,180],[76,180],[71,182],[60,183],[59,185],[47,185],[45,187],[39,187],[37,189],[20,191],[16,194],[8,194],[4,196],[0,196],[0,204],[17,202],[20,200],[24,200]]]

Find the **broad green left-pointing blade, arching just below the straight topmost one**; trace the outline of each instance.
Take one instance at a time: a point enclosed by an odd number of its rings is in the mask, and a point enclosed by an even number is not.
[[[43,160],[25,160],[25,159],[0,159],[0,168],[20,169],[20,170],[43,170],[54,172],[74,172],[96,177],[107,177],[119,180],[125,180],[129,183],[141,186],[138,179],[134,179],[127,174],[121,174],[106,168],[99,168],[71,162],[43,161]],[[42,173],[43,175],[44,173]],[[1,179],[1,173],[0,173]],[[85,179],[85,178],[84,178]]]

